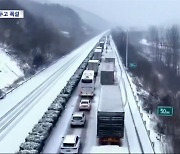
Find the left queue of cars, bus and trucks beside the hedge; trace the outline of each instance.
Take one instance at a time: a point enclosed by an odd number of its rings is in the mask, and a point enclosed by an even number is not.
[[[92,60],[88,61],[87,69],[83,72],[80,80],[80,103],[79,112],[74,112],[71,118],[71,127],[85,126],[87,121],[85,113],[81,110],[91,110],[92,99],[95,95],[95,79],[98,74],[98,68],[101,61],[102,51],[104,49],[106,37],[103,37],[99,42],[99,46],[94,51]],[[80,148],[80,137],[75,134],[68,134],[63,137],[60,147],[60,153],[78,153]]]

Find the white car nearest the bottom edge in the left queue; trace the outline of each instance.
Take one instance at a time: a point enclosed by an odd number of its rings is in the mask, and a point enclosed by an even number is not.
[[[60,147],[60,153],[78,153],[80,138],[77,135],[66,135]]]

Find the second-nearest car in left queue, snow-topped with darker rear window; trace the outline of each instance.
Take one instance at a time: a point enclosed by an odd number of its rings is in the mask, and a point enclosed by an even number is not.
[[[72,126],[84,126],[86,117],[83,112],[75,112],[72,114],[71,127]]]

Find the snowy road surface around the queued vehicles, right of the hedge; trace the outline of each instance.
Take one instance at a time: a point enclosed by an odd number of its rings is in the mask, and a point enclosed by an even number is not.
[[[116,48],[113,44],[113,41],[111,40],[112,44],[112,51],[111,52],[117,52]],[[121,88],[121,95],[126,102],[126,94],[127,92],[127,104],[125,104],[125,134],[124,138],[122,139],[122,145],[123,148],[122,151],[119,151],[119,153],[154,153],[152,145],[150,140],[142,141],[146,139],[147,132],[143,130],[144,127],[143,123],[141,123],[142,119],[141,117],[139,119],[136,118],[136,120],[140,121],[139,125],[137,126],[137,122],[134,122],[133,114],[139,114],[138,110],[132,107],[132,103],[130,105],[130,101],[134,102],[132,100],[132,91],[129,89],[126,89],[129,83],[125,83],[126,86],[123,84],[122,80],[124,79],[124,70],[122,64],[120,63],[120,57],[117,55],[116,57],[116,68],[117,68],[117,80],[119,82],[119,86]],[[122,66],[122,67],[121,67]],[[92,100],[92,107],[91,111],[85,111],[85,115],[87,118],[87,123],[85,127],[83,128],[71,128],[70,127],[70,121],[71,121],[71,115],[75,111],[79,111],[79,89],[77,88],[74,92],[72,98],[69,101],[68,106],[66,107],[65,112],[63,113],[63,116],[57,123],[56,127],[54,128],[51,136],[49,137],[48,141],[46,142],[46,146],[43,150],[44,153],[58,153],[60,150],[60,145],[62,143],[62,137],[67,134],[76,134],[80,136],[82,146],[79,153],[89,153],[91,151],[91,148],[93,146],[98,146],[98,139],[97,139],[97,108],[99,103],[99,95],[100,95],[100,69],[98,76],[96,78],[96,87],[95,87],[95,96]],[[130,93],[130,94],[129,94]],[[129,96],[131,96],[129,99]],[[134,99],[134,98],[133,98]],[[136,106],[136,104],[134,103]],[[133,106],[134,106],[133,105]],[[136,113],[135,113],[136,112]],[[138,116],[139,115],[134,115]],[[138,128],[137,128],[138,127]],[[138,130],[137,130],[138,129]],[[139,132],[139,130],[143,130],[142,132]],[[142,139],[142,135],[145,136]],[[142,145],[143,144],[143,145]],[[146,144],[146,147],[145,147]]]

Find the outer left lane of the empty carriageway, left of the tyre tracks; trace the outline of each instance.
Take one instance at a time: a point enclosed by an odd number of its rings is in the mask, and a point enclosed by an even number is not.
[[[55,73],[62,65],[66,64],[68,61],[71,61],[71,59],[78,53],[81,53],[85,58],[90,50],[96,45],[102,35],[103,33],[84,43],[71,53],[67,54],[64,58],[61,58],[49,68],[39,73],[28,82],[24,83],[16,90],[9,93],[3,100],[0,100],[0,117],[2,117],[8,110],[13,108],[15,104],[23,100],[29,93],[34,91],[41,83],[43,83],[47,78]],[[83,60],[80,58],[77,63],[80,64],[82,61]]]

